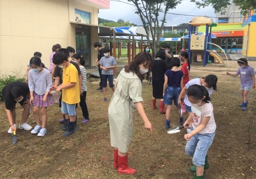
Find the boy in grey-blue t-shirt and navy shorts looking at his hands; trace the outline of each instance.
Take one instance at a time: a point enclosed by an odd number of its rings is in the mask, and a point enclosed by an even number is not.
[[[116,68],[116,59],[110,55],[110,49],[105,47],[103,50],[104,57],[100,59],[99,67],[102,69],[102,87],[104,98],[103,101],[107,102],[107,81],[112,91],[115,91],[113,84],[113,68]]]

